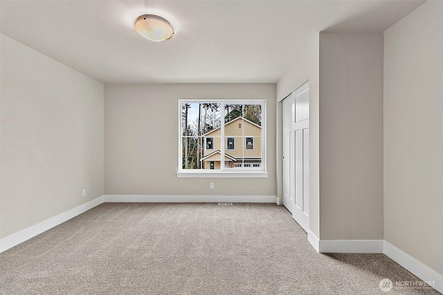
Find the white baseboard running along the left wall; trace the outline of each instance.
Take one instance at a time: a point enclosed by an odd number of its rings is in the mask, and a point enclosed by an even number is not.
[[[78,207],[39,222],[37,223],[37,225],[22,229],[21,231],[17,231],[17,233],[15,234],[11,234],[10,236],[6,236],[5,238],[0,239],[0,253],[19,245],[21,242],[42,234],[44,231],[56,227],[57,225],[60,225],[61,223],[70,220],[71,218],[74,218],[75,216],[78,216],[81,213],[84,213],[89,209],[98,206],[99,204],[102,204],[103,200],[103,196],[100,196],[87,203],[81,204]]]

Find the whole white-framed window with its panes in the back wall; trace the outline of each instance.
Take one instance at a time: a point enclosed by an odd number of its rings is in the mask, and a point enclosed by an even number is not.
[[[267,177],[265,108],[264,100],[180,100],[177,176]]]

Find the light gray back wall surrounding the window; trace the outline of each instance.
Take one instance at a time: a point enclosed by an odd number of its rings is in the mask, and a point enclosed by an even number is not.
[[[266,99],[269,178],[177,178],[179,99]],[[275,84],[106,84],[105,194],[276,196]]]

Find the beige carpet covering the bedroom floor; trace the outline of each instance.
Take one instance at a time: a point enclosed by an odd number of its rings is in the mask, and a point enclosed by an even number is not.
[[[105,203],[0,254],[0,294],[440,294],[383,254],[318,254],[275,204]],[[403,283],[404,284],[404,283]]]

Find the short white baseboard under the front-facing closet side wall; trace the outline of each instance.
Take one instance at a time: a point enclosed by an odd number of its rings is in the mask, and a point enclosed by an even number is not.
[[[383,240],[320,240],[320,253],[383,253]]]

